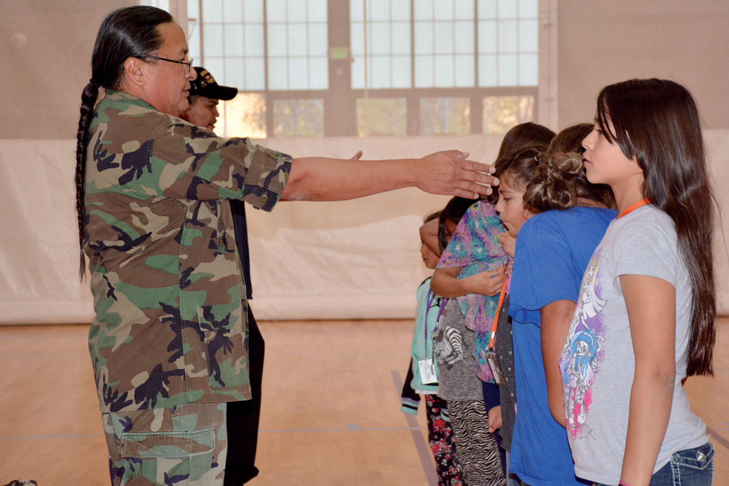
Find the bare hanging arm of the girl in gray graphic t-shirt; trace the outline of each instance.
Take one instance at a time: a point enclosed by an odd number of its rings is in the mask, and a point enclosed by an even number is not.
[[[636,371],[620,479],[647,486],[666,435],[676,381],[676,290],[648,275],[620,275]]]

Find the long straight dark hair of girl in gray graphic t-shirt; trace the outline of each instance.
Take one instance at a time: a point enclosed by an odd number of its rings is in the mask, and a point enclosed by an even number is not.
[[[596,121],[605,138],[643,171],[643,195],[676,225],[693,288],[686,373],[713,375],[716,285],[712,239],[716,198],[709,183],[693,96],[677,82],[631,79],[604,87]],[[609,121],[615,132],[609,129]]]

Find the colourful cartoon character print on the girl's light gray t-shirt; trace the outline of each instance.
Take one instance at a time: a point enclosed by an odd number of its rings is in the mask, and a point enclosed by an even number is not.
[[[567,431],[573,437],[589,433],[587,412],[592,403],[593,379],[601,361],[600,351],[604,341],[601,310],[607,303],[599,297],[596,288],[600,268],[600,256],[590,260],[580,286],[580,302],[572,318],[567,342],[559,361],[565,396]]]

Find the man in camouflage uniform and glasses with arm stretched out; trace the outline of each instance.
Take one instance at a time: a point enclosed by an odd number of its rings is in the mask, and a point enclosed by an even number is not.
[[[292,165],[247,138],[219,138],[176,117],[195,71],[182,28],[157,31],[157,61],[125,60],[120,90],[98,90],[88,132],[89,350],[112,485],[222,485],[225,402],[251,392],[245,289],[221,201],[270,211],[282,196],[336,200],[411,185],[473,197],[493,179],[460,152]]]

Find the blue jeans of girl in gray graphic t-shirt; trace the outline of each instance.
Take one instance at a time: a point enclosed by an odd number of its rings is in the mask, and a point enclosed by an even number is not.
[[[666,466],[650,479],[650,486],[712,486],[714,447],[711,442],[693,449],[679,450]],[[595,483],[595,486],[607,486]]]

